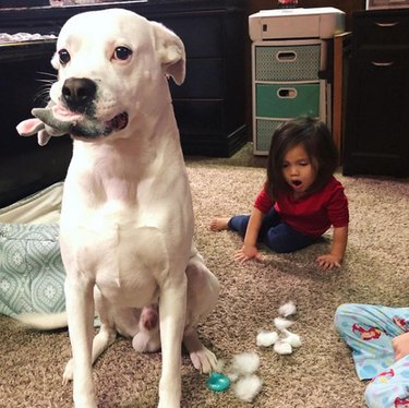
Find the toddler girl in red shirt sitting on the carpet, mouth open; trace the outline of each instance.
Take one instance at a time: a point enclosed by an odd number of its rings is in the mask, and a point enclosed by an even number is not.
[[[216,218],[213,231],[232,229],[244,237],[236,259],[260,260],[257,242],[275,252],[293,252],[316,242],[334,226],[329,253],[317,257],[324,269],[340,266],[348,239],[348,201],[333,176],[337,149],[328,128],[311,118],[285,122],[272,139],[267,180],[251,215]]]

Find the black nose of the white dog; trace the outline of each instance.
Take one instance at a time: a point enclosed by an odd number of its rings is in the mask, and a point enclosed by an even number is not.
[[[62,98],[72,111],[83,113],[94,100],[96,91],[94,81],[86,77],[70,77],[62,86]]]

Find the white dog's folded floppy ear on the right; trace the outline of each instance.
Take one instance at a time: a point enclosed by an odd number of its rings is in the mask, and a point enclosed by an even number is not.
[[[185,52],[182,40],[163,24],[151,22],[154,28],[155,50],[167,75],[181,85],[185,75]]]

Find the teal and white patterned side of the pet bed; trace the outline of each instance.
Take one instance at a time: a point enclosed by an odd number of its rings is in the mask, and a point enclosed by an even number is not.
[[[65,309],[58,224],[0,224],[0,313]]]

